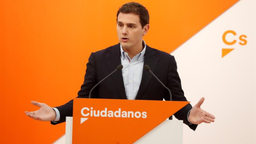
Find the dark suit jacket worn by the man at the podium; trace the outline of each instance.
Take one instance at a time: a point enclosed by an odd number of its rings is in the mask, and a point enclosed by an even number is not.
[[[92,53],[87,63],[84,83],[78,92],[77,98],[88,98],[92,87],[101,79],[116,69],[121,64],[120,44],[110,46],[107,49]],[[177,72],[177,64],[172,55],[149,46],[146,47],[144,65],[148,65],[153,73],[169,87],[174,101],[187,101],[181,89],[180,77]],[[92,98],[102,99],[127,99],[125,94],[122,71],[116,71],[105,79],[92,92]],[[169,92],[146,70],[142,72],[142,79],[136,100],[170,100]],[[73,115],[73,100],[65,105],[56,107],[60,111],[60,121],[66,121],[66,116]],[[197,125],[189,124],[187,115],[191,105],[180,109],[174,116],[183,120],[191,129]],[[56,123],[52,123],[56,124]]]

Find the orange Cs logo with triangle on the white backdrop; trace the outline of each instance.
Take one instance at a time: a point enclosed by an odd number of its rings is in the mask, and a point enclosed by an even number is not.
[[[225,33],[223,33],[222,35],[222,41],[227,44],[227,45],[234,45],[236,43],[238,43],[239,45],[246,45],[247,44],[247,41],[246,41],[246,38],[247,36],[246,35],[239,35],[238,38],[236,38],[236,32],[234,30],[227,30],[225,31]],[[229,52],[233,51],[234,48],[223,48],[222,49],[222,58],[225,57],[225,55],[227,55]]]

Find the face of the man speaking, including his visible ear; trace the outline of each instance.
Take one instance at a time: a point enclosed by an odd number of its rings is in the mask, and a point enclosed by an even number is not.
[[[139,15],[119,13],[116,28],[118,40],[123,49],[130,51],[142,49],[142,38],[147,34],[149,25],[142,28]]]

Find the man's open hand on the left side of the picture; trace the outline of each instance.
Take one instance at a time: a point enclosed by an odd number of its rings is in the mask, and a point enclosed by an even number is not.
[[[40,109],[31,112],[25,111],[27,116],[39,121],[53,121],[56,118],[56,112],[50,106],[36,101],[31,101],[31,103]]]

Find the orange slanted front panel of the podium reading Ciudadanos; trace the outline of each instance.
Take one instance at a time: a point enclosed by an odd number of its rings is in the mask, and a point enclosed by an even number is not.
[[[74,99],[73,143],[133,143],[188,101]]]

